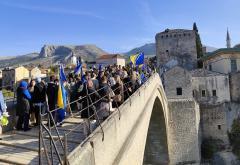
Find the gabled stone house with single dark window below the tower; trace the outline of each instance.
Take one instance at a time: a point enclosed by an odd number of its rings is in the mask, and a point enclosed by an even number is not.
[[[188,70],[175,66],[166,71],[163,78],[163,85],[168,99],[192,98],[192,76]]]

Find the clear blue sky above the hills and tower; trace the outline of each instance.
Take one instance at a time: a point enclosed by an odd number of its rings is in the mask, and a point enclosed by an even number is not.
[[[0,55],[39,52],[44,44],[96,44],[125,52],[166,28],[191,29],[203,44],[240,43],[239,0],[1,0]]]

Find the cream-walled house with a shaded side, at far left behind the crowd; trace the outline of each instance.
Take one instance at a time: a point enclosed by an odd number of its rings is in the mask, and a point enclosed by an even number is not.
[[[23,66],[5,68],[2,71],[2,86],[11,86],[23,79],[29,79],[29,70]]]

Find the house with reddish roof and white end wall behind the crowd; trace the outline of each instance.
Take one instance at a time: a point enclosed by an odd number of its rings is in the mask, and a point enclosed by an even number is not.
[[[96,60],[96,64],[101,64],[104,66],[114,64],[125,66],[125,58],[120,54],[106,54],[100,56]]]

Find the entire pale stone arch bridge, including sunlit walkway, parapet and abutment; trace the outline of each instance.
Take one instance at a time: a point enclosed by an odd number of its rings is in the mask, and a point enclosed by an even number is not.
[[[59,152],[73,165],[199,164],[199,120],[195,101],[167,100],[159,75],[153,74],[101,124],[102,129],[96,128],[87,138],[84,127],[75,130],[67,137],[67,154]],[[60,136],[82,122],[78,116],[65,119],[58,128]],[[39,164],[38,138],[38,128],[3,134],[0,163]]]

